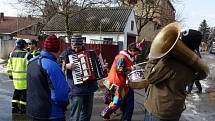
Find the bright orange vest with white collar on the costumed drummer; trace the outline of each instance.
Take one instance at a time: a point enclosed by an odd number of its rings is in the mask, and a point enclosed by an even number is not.
[[[119,78],[116,71],[116,63],[119,58],[124,58],[126,62],[126,67],[131,67],[133,65],[133,58],[126,51],[120,51],[120,53],[115,57],[114,62],[111,66],[110,72],[108,74],[107,80],[117,86],[127,86],[126,77]]]

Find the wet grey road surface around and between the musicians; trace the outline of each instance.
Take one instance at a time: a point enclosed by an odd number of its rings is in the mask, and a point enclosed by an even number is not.
[[[187,109],[183,112],[180,121],[215,121],[215,55],[203,54],[203,58],[210,67],[210,75],[205,81],[201,81],[203,85],[202,94],[193,92],[188,95],[186,100]],[[29,118],[23,115],[12,116],[10,100],[13,85],[4,71],[2,72],[2,69],[0,71],[0,121],[30,121]],[[196,88],[194,87],[195,90]],[[95,94],[91,121],[102,121],[99,112],[106,106],[103,103],[102,96],[102,90]],[[144,91],[135,90],[135,110],[132,121],[143,121],[143,102]],[[120,116],[114,116],[111,121],[119,121],[119,119]]]

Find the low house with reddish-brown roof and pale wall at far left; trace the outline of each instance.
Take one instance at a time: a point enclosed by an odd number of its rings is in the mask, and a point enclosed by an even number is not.
[[[0,13],[0,58],[7,57],[15,45],[13,38],[37,38],[41,27],[40,19],[4,16]]]

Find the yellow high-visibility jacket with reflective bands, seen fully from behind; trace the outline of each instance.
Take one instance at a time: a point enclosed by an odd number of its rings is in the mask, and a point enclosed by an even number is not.
[[[26,89],[26,75],[28,67],[28,55],[30,53],[27,50],[15,50],[10,53],[7,70],[8,74],[13,78],[13,84],[15,89]]]

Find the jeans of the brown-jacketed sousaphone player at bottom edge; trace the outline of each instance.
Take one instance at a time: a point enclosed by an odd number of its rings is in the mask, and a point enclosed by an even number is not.
[[[145,110],[144,121],[179,121],[179,119],[160,119],[157,116],[154,116],[152,113],[149,113]]]

